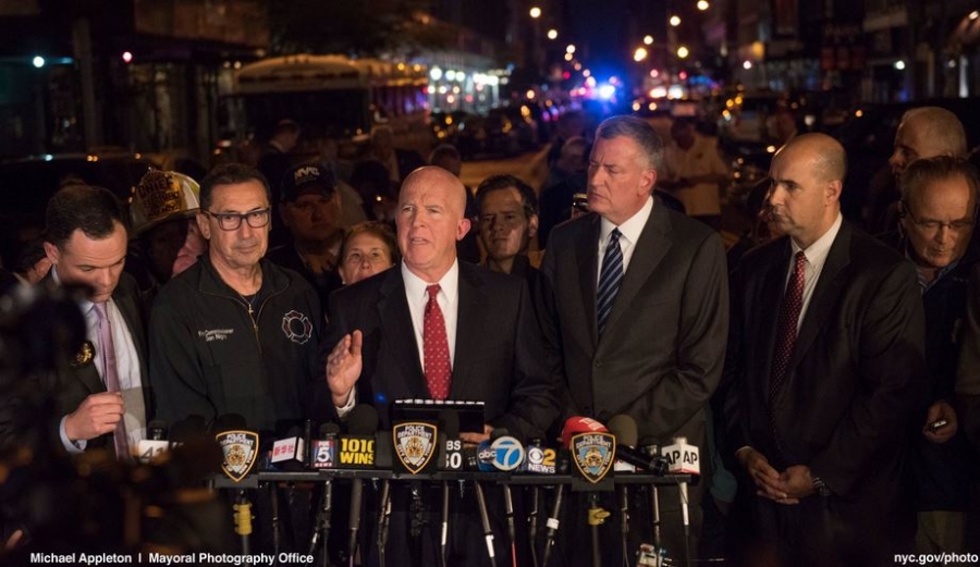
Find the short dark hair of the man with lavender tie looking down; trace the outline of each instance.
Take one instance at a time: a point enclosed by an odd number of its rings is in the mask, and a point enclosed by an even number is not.
[[[90,185],[69,185],[56,193],[45,211],[45,241],[63,247],[76,230],[101,241],[115,232],[115,223],[126,226],[122,204],[109,189]]]

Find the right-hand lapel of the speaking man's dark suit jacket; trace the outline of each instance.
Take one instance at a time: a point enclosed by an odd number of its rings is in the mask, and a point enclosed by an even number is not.
[[[460,262],[460,309],[456,315],[456,348],[453,356],[453,380],[450,384],[451,399],[465,399],[466,374],[473,360],[480,352],[480,325],[489,303],[481,289],[482,281],[476,270]]]

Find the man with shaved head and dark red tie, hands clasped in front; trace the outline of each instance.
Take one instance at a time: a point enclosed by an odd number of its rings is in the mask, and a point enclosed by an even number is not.
[[[746,565],[891,565],[911,548],[905,432],[926,391],[915,270],[841,215],[844,148],[773,157],[785,236],[733,275],[726,422],[751,521]]]

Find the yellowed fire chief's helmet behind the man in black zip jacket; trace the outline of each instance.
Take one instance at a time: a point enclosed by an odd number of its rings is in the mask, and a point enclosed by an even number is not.
[[[132,188],[132,236],[138,237],[164,221],[189,219],[200,209],[200,186],[183,173],[150,170]]]

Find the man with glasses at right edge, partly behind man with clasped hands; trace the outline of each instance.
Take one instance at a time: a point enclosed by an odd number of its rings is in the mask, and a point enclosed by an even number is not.
[[[883,237],[916,268],[926,308],[929,397],[908,444],[918,511],[918,553],[963,553],[973,458],[954,409],[977,210],[977,171],[940,156],[911,161],[899,188],[898,233]]]

